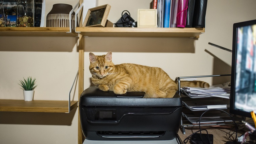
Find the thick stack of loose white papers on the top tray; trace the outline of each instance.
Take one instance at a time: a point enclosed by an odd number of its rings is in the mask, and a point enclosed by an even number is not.
[[[230,86],[210,87],[210,88],[183,87],[181,88],[181,90],[191,98],[209,97],[209,96],[229,98],[229,95],[230,95]]]

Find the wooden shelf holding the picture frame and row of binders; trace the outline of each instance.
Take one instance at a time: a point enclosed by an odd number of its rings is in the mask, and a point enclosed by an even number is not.
[[[185,37],[198,38],[205,28],[76,27],[85,37]]]

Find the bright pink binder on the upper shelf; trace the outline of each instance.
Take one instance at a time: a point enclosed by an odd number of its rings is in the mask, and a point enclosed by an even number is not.
[[[179,0],[178,14],[177,14],[177,27],[185,27],[187,20],[188,0]]]

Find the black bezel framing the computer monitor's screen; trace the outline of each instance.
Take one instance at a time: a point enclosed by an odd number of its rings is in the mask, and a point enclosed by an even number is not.
[[[251,113],[237,110],[234,108],[234,93],[235,93],[235,77],[236,77],[236,54],[237,54],[237,29],[238,27],[249,26],[256,24],[255,20],[238,22],[233,24],[233,39],[232,39],[232,66],[231,66],[231,87],[230,87],[230,113],[234,115],[251,118]]]

